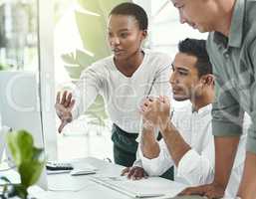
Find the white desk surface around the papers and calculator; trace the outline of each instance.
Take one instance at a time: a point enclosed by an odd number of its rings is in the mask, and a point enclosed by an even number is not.
[[[76,167],[82,167],[83,163],[89,163],[99,169],[99,174],[120,176],[124,167],[109,163],[104,160],[88,157],[72,161]],[[32,189],[31,195],[37,199],[130,199],[130,197],[118,191],[97,184],[89,178],[92,175],[71,176],[70,174],[48,175],[49,191]],[[174,182],[173,182],[174,183]],[[180,197],[200,198],[200,197]]]

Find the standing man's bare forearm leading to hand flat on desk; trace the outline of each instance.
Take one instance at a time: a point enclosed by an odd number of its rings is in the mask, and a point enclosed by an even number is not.
[[[215,176],[214,182],[226,188],[240,137],[214,137]]]

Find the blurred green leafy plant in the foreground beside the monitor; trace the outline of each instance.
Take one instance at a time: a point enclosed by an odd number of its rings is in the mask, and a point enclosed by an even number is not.
[[[2,198],[18,196],[26,199],[28,188],[38,181],[45,166],[44,151],[34,146],[33,137],[26,130],[8,133],[6,139],[21,183],[11,184],[7,178],[2,178],[7,182]]]

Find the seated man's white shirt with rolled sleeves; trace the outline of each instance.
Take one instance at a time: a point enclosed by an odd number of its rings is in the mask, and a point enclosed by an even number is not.
[[[171,119],[183,139],[191,146],[175,168],[175,181],[196,186],[210,183],[214,176],[214,137],[211,126],[212,105],[208,104],[198,111],[192,111],[191,105],[175,110]],[[248,120],[248,117],[247,117]],[[248,122],[245,123],[248,125]],[[246,127],[245,127],[246,128]],[[160,153],[154,159],[147,159],[140,150],[142,166],[148,175],[158,176],[164,173],[174,162],[163,139],[159,141]],[[140,148],[140,147],[139,147]],[[243,170],[245,158],[245,135],[242,136],[226,196],[235,196]]]

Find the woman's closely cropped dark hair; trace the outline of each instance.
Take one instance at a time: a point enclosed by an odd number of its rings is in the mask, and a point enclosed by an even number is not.
[[[116,6],[110,15],[128,15],[133,16],[137,23],[139,30],[147,30],[148,19],[143,8],[134,3],[122,3]]]

